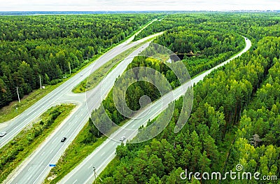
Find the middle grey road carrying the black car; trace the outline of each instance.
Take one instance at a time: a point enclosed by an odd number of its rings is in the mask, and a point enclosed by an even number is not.
[[[143,45],[141,48],[137,49],[132,53],[132,55],[136,55],[139,50],[148,47],[148,43]],[[131,59],[125,59],[125,62],[120,63],[111,73],[107,76],[103,81],[94,88],[94,90],[87,93],[90,95],[90,100],[87,103],[90,103],[92,109],[98,108],[102,103],[101,90],[100,85],[103,85],[103,98],[106,97],[106,94],[109,93],[111,87],[113,87],[113,83],[120,76],[121,73],[125,70],[125,66],[132,62]],[[124,66],[125,65],[125,66]],[[73,95],[68,94],[64,95],[63,100],[61,102],[65,103],[67,97],[78,97],[85,99],[85,94],[82,95]],[[54,133],[48,137],[48,139],[41,145],[32,155],[27,159],[27,162],[23,163],[15,174],[9,176],[7,183],[42,183],[45,177],[48,175],[50,171],[49,164],[55,164],[59,160],[59,157],[64,153],[64,150],[69,146],[71,141],[75,139],[76,135],[80,130],[84,127],[87,122],[89,115],[87,111],[87,104],[85,104],[85,100],[78,101],[79,104],[76,108],[76,111],[72,113],[62,124],[57,127]],[[73,99],[69,99],[69,101],[73,102]],[[58,101],[59,103],[59,101]],[[66,136],[68,139],[64,143],[60,142],[63,136]]]

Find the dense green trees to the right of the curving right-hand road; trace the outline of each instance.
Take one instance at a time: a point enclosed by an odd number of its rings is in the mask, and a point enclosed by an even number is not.
[[[238,20],[239,15],[230,15]],[[269,29],[266,24],[259,29]],[[174,134],[182,98],[174,102],[172,121],[155,139],[118,146],[116,167],[104,171],[103,183],[218,183],[184,181],[180,174],[185,169],[236,171],[237,164],[246,172],[279,176],[279,37],[261,35],[254,40],[258,43],[252,50],[195,85],[193,111],[181,132]]]

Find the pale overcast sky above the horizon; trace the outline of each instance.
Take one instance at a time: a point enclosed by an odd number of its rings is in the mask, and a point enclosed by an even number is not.
[[[0,11],[280,10],[279,0],[0,0]]]

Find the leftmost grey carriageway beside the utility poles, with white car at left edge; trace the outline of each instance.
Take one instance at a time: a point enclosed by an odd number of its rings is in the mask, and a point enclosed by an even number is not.
[[[152,22],[154,21],[156,20],[153,20]],[[150,22],[149,24],[151,24],[152,22]],[[147,24],[141,30],[145,29],[149,24]],[[140,31],[134,34],[134,36],[139,34]],[[99,59],[97,59],[95,62],[87,66],[87,68],[77,73],[76,76],[69,78],[69,80],[67,80],[65,83],[63,83],[55,90],[47,94],[41,100],[37,101],[36,104],[28,108],[26,111],[18,115],[13,120],[10,120],[10,122],[8,122],[8,126],[1,127],[0,132],[7,132],[7,134],[6,136],[0,138],[0,148],[2,148],[6,143],[11,141],[13,137],[15,137],[18,133],[20,133],[20,131],[24,127],[26,127],[30,122],[34,121],[43,112],[47,111],[48,108],[53,106],[53,104],[55,104],[56,101],[59,101],[59,99],[64,97],[65,94],[69,94],[69,92],[71,92],[73,87],[78,85],[80,82],[85,80],[87,76],[90,75],[90,72],[92,73],[96,71],[106,62],[109,62],[110,59],[119,55],[121,52],[124,52],[125,50],[134,47],[134,45],[137,45],[138,43],[141,43],[151,38],[151,36],[149,36],[147,38],[142,39],[141,41],[137,41],[129,44],[134,39],[134,36],[129,38],[124,43],[121,43],[120,45],[117,45],[115,48],[109,50],[109,52],[106,52],[104,55],[102,55],[102,57],[99,57]]]

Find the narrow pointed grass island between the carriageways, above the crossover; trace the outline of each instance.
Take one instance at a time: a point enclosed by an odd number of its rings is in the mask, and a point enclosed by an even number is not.
[[[146,41],[144,42],[146,43]],[[141,47],[141,45],[144,45],[144,43],[139,43],[135,45],[133,48],[130,48],[126,50],[125,52],[122,52],[120,55],[117,55],[113,59],[111,59],[109,62],[106,62],[102,67],[97,69],[97,71],[94,71],[94,73],[90,74],[88,78],[83,80],[82,83],[77,85],[72,92],[74,93],[81,93],[86,92],[88,90],[92,90],[94,87],[96,87],[103,78],[109,73],[114,67],[116,67],[125,57],[129,56],[134,50]]]

